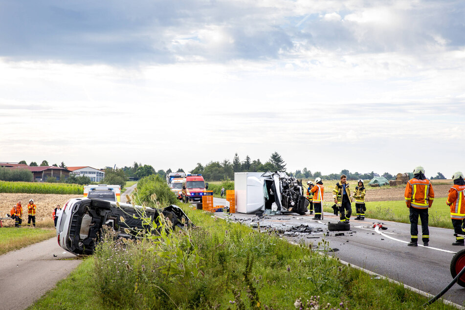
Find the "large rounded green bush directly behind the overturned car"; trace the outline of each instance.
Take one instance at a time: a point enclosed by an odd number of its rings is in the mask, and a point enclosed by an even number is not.
[[[175,204],[176,195],[171,191],[165,179],[158,175],[143,177],[137,182],[137,204],[146,202],[148,206],[154,206],[151,196],[156,194],[157,200],[164,206]]]

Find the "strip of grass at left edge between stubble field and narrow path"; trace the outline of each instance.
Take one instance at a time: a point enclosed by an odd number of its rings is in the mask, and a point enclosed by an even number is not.
[[[23,221],[24,223],[24,221]],[[56,236],[55,229],[29,227],[0,228],[0,255]]]

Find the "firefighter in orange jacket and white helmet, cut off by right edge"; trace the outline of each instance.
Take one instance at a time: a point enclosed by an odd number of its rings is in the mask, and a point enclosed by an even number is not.
[[[452,245],[465,245],[465,180],[464,174],[457,171],[452,175],[454,186],[449,189],[447,205],[450,207],[450,218],[454,226],[455,242]]]

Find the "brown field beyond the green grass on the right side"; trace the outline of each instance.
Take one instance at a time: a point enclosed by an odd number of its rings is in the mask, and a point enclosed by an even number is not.
[[[350,183],[349,183],[350,184]],[[334,183],[335,185],[335,183]],[[325,193],[323,194],[323,200],[331,202],[332,201],[332,189],[334,188],[333,184],[325,183]],[[352,185],[352,184],[350,184]],[[434,197],[447,197],[449,188],[451,185],[448,184],[433,184]],[[386,188],[371,188],[370,186],[366,187],[367,194],[365,196],[366,201],[386,201],[386,200],[404,200],[405,186],[399,187],[386,187]],[[354,187],[351,186],[351,190],[354,190]]]

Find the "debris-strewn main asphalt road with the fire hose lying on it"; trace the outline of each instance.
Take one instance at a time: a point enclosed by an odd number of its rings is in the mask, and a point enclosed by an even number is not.
[[[225,199],[214,199],[218,205],[226,204]],[[223,216],[222,213],[217,213]],[[453,246],[454,232],[451,229],[429,228],[430,242],[428,247],[422,246],[421,227],[419,226],[419,246],[407,246],[410,242],[410,224],[383,221],[387,230],[376,231],[372,226],[379,220],[365,219],[365,221],[351,220],[351,230],[343,232],[343,236],[335,236],[329,232],[326,236],[327,223],[337,222],[338,218],[325,213],[323,221],[311,220],[313,215],[300,216],[274,215],[259,218],[255,215],[234,213],[231,219],[250,224],[260,221],[262,227],[286,229],[292,226],[308,224],[313,229],[321,228],[323,232],[285,235],[284,238],[298,243],[303,240],[306,244],[316,246],[319,241],[329,241],[332,249],[338,249],[333,255],[355,266],[365,268],[386,276],[421,291],[436,295],[452,281],[450,275],[450,261],[456,251],[464,246]],[[354,217],[353,217],[354,218]],[[458,305],[465,303],[465,288],[455,284],[443,296]]]

